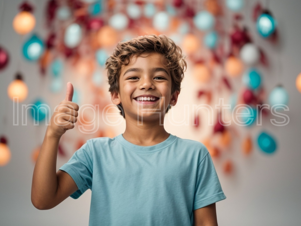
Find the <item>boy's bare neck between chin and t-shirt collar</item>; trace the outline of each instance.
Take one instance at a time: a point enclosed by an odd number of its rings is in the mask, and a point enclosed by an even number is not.
[[[161,125],[159,119],[137,121],[137,118],[133,119],[126,116],[126,130],[123,137],[139,146],[156,145],[169,137],[169,133],[164,129],[163,122],[164,115],[161,117]]]

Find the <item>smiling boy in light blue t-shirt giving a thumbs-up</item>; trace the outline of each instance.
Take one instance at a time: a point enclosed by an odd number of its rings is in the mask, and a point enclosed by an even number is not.
[[[216,226],[215,203],[226,196],[208,150],[163,125],[178,100],[184,58],[164,35],[119,42],[106,69],[126,130],[114,138],[88,140],[55,172],[58,141],[78,115],[68,83],[61,104],[72,111],[61,111],[65,124],[55,121],[56,113],[51,117],[33,174],[33,205],[51,209],[91,189],[90,226]]]

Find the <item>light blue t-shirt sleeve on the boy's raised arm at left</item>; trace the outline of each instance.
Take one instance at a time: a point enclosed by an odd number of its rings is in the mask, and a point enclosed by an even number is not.
[[[93,152],[89,147],[89,141],[82,145],[67,163],[59,170],[67,172],[75,181],[78,190],[70,195],[73,199],[78,199],[86,190],[92,188],[93,174]]]

